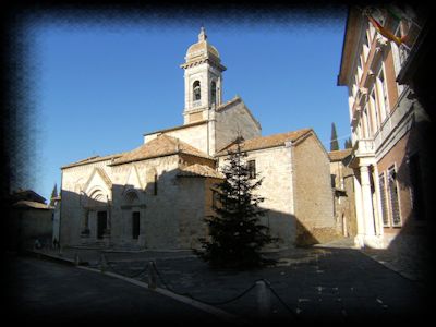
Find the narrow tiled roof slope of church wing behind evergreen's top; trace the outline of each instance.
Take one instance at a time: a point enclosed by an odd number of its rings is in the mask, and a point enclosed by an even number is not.
[[[249,152],[249,150],[281,146],[284,145],[286,142],[295,142],[300,137],[311,132],[312,129],[302,129],[294,132],[287,132],[269,136],[259,136],[255,138],[245,140],[241,144],[241,150]],[[221,150],[219,150],[216,154],[216,156],[225,156],[228,154],[229,150],[234,150],[235,148],[237,145],[234,143],[231,143]]]

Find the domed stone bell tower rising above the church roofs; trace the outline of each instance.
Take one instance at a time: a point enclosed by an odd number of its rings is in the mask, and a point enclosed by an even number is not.
[[[186,51],[184,69],[184,124],[208,120],[208,110],[222,101],[222,72],[218,50],[207,41],[204,27]]]

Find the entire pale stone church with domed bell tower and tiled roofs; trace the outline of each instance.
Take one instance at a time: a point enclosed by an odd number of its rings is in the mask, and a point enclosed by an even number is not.
[[[244,138],[264,183],[264,223],[278,246],[335,237],[329,157],[315,132],[261,135],[261,124],[240,97],[222,101],[218,50],[204,28],[181,65],[185,80],[183,125],[147,133],[140,147],[62,167],[62,245],[195,249],[207,234],[214,184],[228,149]]]

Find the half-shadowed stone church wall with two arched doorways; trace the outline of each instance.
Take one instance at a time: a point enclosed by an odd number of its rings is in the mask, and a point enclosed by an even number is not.
[[[192,158],[190,158],[192,159]],[[106,161],[105,164],[109,164]],[[61,242],[63,245],[104,243],[97,239],[97,211],[108,213],[111,245],[134,245],[148,249],[190,249],[196,245],[205,215],[203,178],[178,178],[178,155],[153,158],[118,166],[88,164],[63,170]],[[80,194],[86,190],[104,190],[104,181],[95,168],[107,171],[111,181],[109,202],[90,202]],[[154,175],[157,175],[155,185]],[[74,184],[78,181],[78,184]],[[85,190],[85,193],[86,193]],[[157,191],[157,194],[155,194]],[[90,194],[87,194],[90,195]],[[89,205],[90,204],[90,205]],[[133,239],[132,216],[140,213],[140,237]],[[81,237],[85,216],[89,235]],[[107,244],[109,245],[109,244]]]

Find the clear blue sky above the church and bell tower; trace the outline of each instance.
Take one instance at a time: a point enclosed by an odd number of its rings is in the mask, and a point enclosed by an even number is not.
[[[347,12],[280,23],[52,20],[28,29],[35,169],[26,185],[48,198],[60,167],[133,149],[143,134],[183,123],[183,70],[202,24],[227,66],[223,100],[239,95],[263,135],[313,128],[329,149],[350,135],[348,96],[337,86]]]

